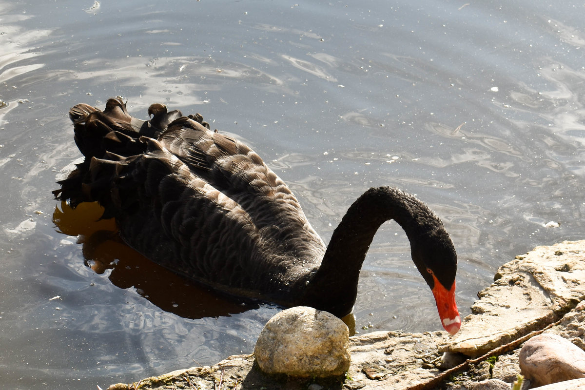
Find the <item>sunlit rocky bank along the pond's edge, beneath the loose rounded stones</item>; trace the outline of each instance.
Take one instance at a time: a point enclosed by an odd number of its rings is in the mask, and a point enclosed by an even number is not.
[[[264,374],[253,354],[177,370],[109,390],[138,389],[510,389],[522,344],[557,334],[585,350],[585,240],[536,247],[498,268],[455,337],[374,332],[350,337],[343,377]]]

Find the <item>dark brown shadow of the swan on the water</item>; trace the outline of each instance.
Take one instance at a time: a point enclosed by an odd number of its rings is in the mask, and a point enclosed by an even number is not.
[[[104,209],[97,202],[71,208],[55,207],[53,222],[59,232],[78,236],[84,263],[97,274],[109,274],[119,288],[135,287],[144,298],[166,312],[190,319],[229,316],[256,309],[259,303],[238,302],[168,271],[123,243],[114,219],[99,219]]]

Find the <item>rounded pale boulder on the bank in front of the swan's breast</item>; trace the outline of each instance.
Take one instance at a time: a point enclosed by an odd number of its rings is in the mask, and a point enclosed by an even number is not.
[[[328,312],[297,306],[266,323],[254,355],[269,374],[332,377],[349,369],[349,329]]]

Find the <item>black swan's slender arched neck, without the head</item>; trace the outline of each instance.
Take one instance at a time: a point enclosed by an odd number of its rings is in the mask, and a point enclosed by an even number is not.
[[[343,216],[329,241],[321,267],[309,282],[307,299],[313,301],[314,307],[329,308],[338,316],[350,312],[367,250],[380,225],[390,219],[404,229],[415,263],[415,246],[425,245],[428,241],[425,237],[433,236],[436,230],[445,232],[435,214],[414,196],[397,188],[370,188]],[[417,267],[421,270],[420,264]]]

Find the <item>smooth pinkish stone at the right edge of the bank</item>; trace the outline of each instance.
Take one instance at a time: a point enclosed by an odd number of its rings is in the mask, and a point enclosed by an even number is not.
[[[533,386],[585,378],[585,351],[556,334],[539,334],[522,346],[520,369]]]

